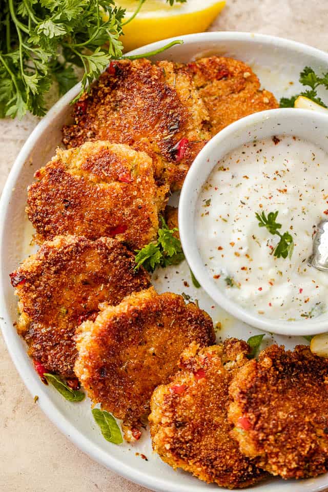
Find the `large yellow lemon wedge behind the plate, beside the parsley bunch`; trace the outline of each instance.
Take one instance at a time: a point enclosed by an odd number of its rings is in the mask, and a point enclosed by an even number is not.
[[[137,0],[118,0],[120,7],[127,9],[128,20],[138,7]],[[146,0],[136,17],[123,27],[121,42],[125,51],[130,51],[160,39],[182,34],[205,31],[221,12],[225,1],[188,0],[172,7],[166,0]]]

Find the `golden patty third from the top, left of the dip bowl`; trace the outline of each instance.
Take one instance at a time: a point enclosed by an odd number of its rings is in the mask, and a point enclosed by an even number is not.
[[[152,160],[144,152],[86,142],[58,149],[35,178],[27,213],[38,242],[60,234],[115,236],[140,249],[157,237],[169,188],[156,185]]]

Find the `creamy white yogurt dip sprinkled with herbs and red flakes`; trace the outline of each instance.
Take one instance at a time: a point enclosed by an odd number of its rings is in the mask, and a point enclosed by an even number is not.
[[[280,241],[256,213],[278,212]],[[272,319],[314,318],[326,311],[328,273],[308,264],[317,224],[328,218],[328,155],[308,141],[274,136],[244,144],[221,159],[197,202],[201,257],[221,291]]]

